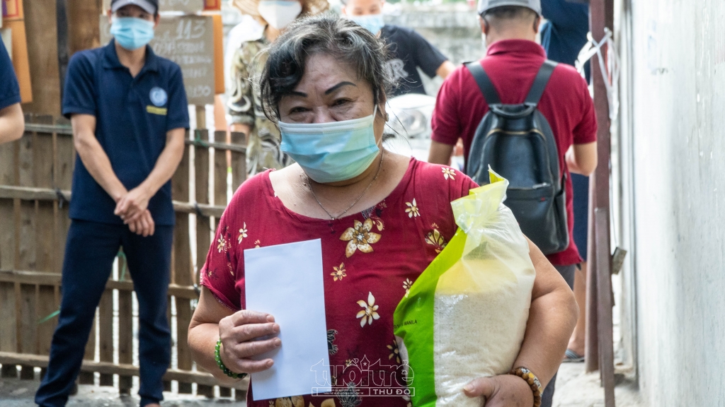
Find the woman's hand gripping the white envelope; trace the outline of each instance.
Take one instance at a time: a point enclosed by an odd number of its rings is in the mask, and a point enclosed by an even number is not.
[[[272,351],[282,345],[278,337],[279,325],[274,316],[243,309],[219,321],[222,341],[220,357],[227,369],[235,373],[255,373],[274,364],[270,358],[256,360],[254,356]]]

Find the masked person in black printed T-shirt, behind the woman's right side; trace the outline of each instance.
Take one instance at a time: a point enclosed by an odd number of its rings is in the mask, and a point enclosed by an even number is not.
[[[343,0],[342,12],[347,18],[390,44],[392,58],[388,61],[387,68],[398,85],[392,97],[405,93],[424,95],[426,91],[423,88],[421,75],[418,74],[418,67],[429,77],[438,75],[445,79],[455,70],[455,65],[415,30],[385,24],[382,14],[384,2],[384,0]]]

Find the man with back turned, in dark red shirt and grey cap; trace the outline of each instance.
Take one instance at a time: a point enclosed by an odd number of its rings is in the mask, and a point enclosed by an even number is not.
[[[479,21],[486,35],[488,50],[481,66],[501,96],[504,104],[521,104],[547,59],[536,36],[541,22],[540,0],[479,0]],[[443,83],[436,100],[431,125],[429,161],[447,164],[458,138],[468,160],[476,129],[489,106],[471,72],[458,68]],[[597,167],[597,117],[587,83],[573,67],[559,64],[539,101],[539,111],[551,125],[558,150],[559,167],[568,175],[589,175]],[[566,209],[569,235],[573,232],[571,177],[566,177]],[[576,243],[552,253],[547,259],[571,288],[576,264],[581,262]],[[551,324],[559,323],[555,319]],[[562,338],[541,338],[560,343]],[[568,338],[566,338],[568,340]],[[564,342],[566,342],[566,340]],[[566,348],[561,349],[564,356]],[[553,362],[553,361],[552,361]],[[536,374],[536,366],[524,366]],[[542,395],[542,407],[550,407],[556,376]],[[544,383],[542,383],[544,384]],[[544,384],[545,385],[545,384]],[[479,388],[479,390],[481,390]],[[481,393],[471,393],[480,395]]]

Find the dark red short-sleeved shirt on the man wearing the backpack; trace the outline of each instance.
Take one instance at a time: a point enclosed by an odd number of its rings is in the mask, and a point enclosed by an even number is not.
[[[539,44],[526,40],[497,41],[481,59],[504,104],[523,103],[534,83],[546,52]],[[572,144],[586,144],[597,140],[597,117],[587,83],[579,72],[565,64],[554,70],[539,110],[551,125],[559,150],[559,167],[569,173],[564,154]],[[489,106],[476,85],[473,75],[460,67],[447,78],[438,93],[433,113],[433,135],[439,143],[455,145],[463,139],[465,157],[471,150],[476,127],[481,123]],[[571,176],[566,178],[566,209],[569,222],[569,247],[547,258],[555,266],[568,266],[581,262],[573,238],[573,206]]]

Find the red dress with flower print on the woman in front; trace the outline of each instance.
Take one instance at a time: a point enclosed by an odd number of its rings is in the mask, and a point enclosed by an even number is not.
[[[320,238],[334,390],[257,401],[249,391],[247,406],[410,406],[396,382],[360,377],[390,377],[400,371],[393,311],[455,233],[450,202],[475,187],[455,169],[411,159],[384,201],[358,214],[324,220],[287,209],[276,197],[269,172],[244,182],[220,219],[202,285],[228,308],[243,309],[245,249]]]

